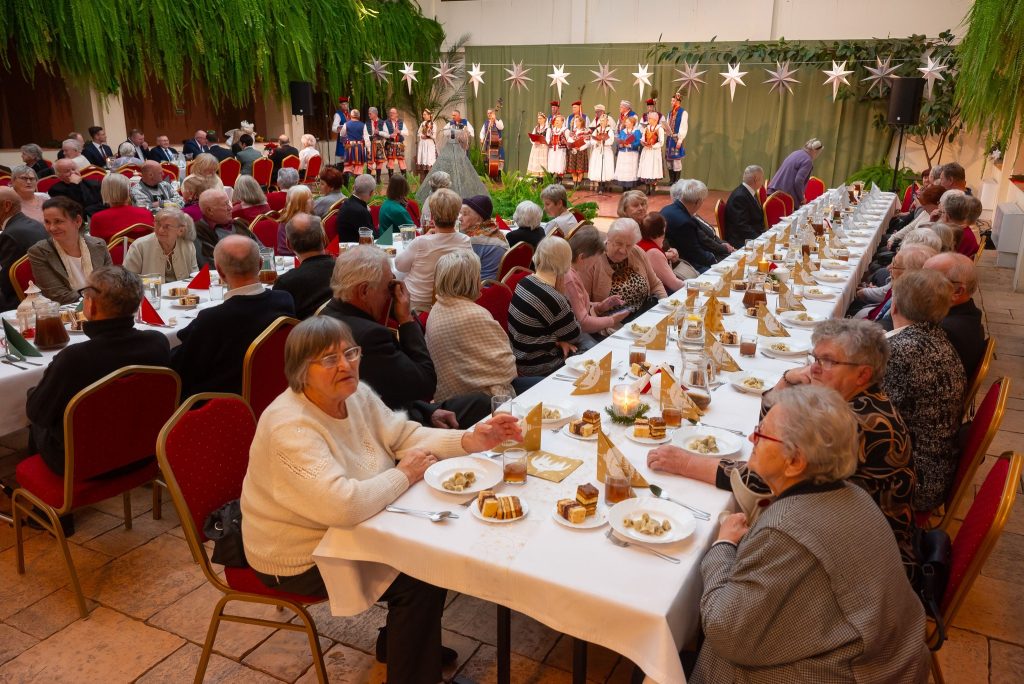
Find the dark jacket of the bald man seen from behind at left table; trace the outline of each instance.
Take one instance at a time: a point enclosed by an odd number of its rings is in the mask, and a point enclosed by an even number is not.
[[[181,397],[199,392],[242,393],[242,365],[252,341],[279,316],[295,315],[287,292],[239,295],[204,309],[178,331],[181,346],[171,368],[181,376]]]

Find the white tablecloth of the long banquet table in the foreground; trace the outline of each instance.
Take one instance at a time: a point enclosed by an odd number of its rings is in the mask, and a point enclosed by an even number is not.
[[[882,194],[873,206],[874,214],[866,223],[856,226],[865,232],[855,246],[861,252],[859,258],[850,258],[846,282],[822,286],[836,294],[831,301],[805,299],[809,312],[827,317],[842,316],[846,311],[896,207],[896,198]],[[738,256],[737,253],[733,258]],[[715,275],[708,273],[701,277]],[[775,299],[769,296],[772,310]],[[756,320],[743,315],[739,300],[739,294],[730,297],[734,313],[725,318],[726,328],[739,333],[756,332]],[[651,310],[638,323],[653,325],[665,315],[664,310]],[[810,329],[788,331],[793,340],[809,343]],[[589,350],[586,356],[597,359],[611,351],[615,365],[612,384],[627,381],[623,375],[632,339],[628,332],[620,331]],[[760,348],[764,346],[759,344]],[[786,369],[796,368],[792,360],[769,358],[761,353],[752,358],[740,357],[735,348],[730,351],[745,372],[757,372],[767,379],[769,386]],[[678,362],[679,351],[670,343],[667,351],[649,351],[647,358]],[[602,503],[603,487],[596,478],[596,442],[545,429],[544,450],[581,459],[584,464],[557,484],[537,477],[528,477],[525,485],[499,484],[498,494],[518,495],[529,506],[528,514],[514,523],[482,522],[460,506],[467,499],[465,495],[443,495],[420,482],[395,504],[447,509],[460,513],[459,519],[434,524],[422,518],[382,512],[354,527],[330,529],[314,557],[327,583],[334,614],[351,615],[369,607],[398,570],[519,611],[577,639],[603,645],[630,658],[650,680],[685,681],[678,651],[697,633],[699,625],[699,562],[716,538],[719,515],[734,509],[733,498],[711,484],[650,471],[646,455],[651,447],[629,440],[625,428],[611,425],[604,416],[610,394],[571,396],[572,384],[562,379],[565,375],[562,371],[545,379],[517,397],[516,403],[528,410],[543,400],[570,404],[579,412],[588,409],[601,412],[611,440],[649,482],[659,484],[675,499],[710,512],[711,520],[698,520],[689,538],[658,547],[682,562],[676,565],[642,550],[613,546],[604,537],[607,526],[570,529],[553,520],[555,502],[573,498],[578,484],[597,485],[602,489]],[[652,414],[656,415],[656,397],[644,395],[642,400],[651,403]],[[757,423],[759,407],[760,396],[725,384],[713,391],[703,422],[749,434]],[[744,440],[740,455],[748,456],[750,448]],[[636,494],[649,496],[639,489]]]

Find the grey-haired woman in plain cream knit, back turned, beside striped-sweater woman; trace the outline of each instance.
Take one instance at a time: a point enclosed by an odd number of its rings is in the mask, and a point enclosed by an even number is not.
[[[456,250],[437,260],[437,301],[427,318],[427,350],[437,373],[434,398],[465,392],[513,394],[515,356],[501,325],[476,304],[480,296],[480,259]]]

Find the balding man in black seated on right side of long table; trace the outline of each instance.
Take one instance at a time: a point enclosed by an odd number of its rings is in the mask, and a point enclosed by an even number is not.
[[[985,353],[985,326],[981,322],[981,309],[973,299],[978,290],[974,260],[956,252],[943,252],[926,261],[925,268],[939,271],[953,286],[952,306],[940,325],[961,357],[970,382]]]

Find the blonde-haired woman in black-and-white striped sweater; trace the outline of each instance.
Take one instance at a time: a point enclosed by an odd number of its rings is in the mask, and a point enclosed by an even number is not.
[[[561,368],[582,334],[565,298],[572,248],[549,236],[538,245],[534,263],[537,272],[519,281],[509,305],[509,337],[520,376],[546,376]]]

